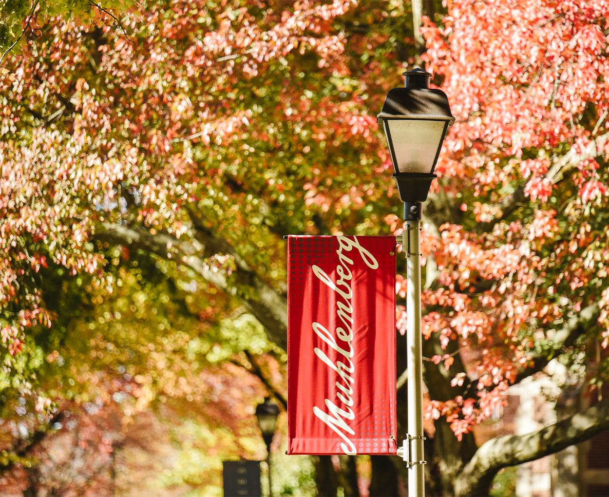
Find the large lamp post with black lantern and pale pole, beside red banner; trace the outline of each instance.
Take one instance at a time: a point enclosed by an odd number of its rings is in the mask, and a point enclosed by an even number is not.
[[[431,74],[412,69],[403,74],[404,88],[393,88],[385,98],[378,121],[382,122],[404,202],[406,228],[402,247],[407,258],[408,289],[407,365],[408,433],[398,455],[408,463],[408,495],[424,497],[423,460],[423,361],[421,357],[421,208],[427,200],[449,125],[454,122],[448,98],[442,90],[431,90]]]

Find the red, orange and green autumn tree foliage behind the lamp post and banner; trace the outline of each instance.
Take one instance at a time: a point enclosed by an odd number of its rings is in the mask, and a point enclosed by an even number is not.
[[[607,376],[609,2],[435,5],[420,58],[456,122],[424,211],[427,415],[466,442],[551,359],[593,389]],[[120,27],[35,18],[0,80],[3,417],[33,432],[133,383],[127,418],[190,397],[238,433],[242,392],[253,405],[264,390],[252,373],[281,395],[283,235],[401,231],[376,114],[419,56],[407,9],[167,1]],[[219,370],[232,386],[217,397]]]

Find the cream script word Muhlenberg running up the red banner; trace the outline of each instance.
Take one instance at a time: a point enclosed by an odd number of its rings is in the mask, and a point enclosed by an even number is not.
[[[322,409],[319,409],[317,406],[313,407],[313,412],[320,420],[326,423],[326,425],[336,431],[337,434],[345,440],[347,445],[341,443],[340,448],[343,449],[345,454],[353,456],[356,454],[355,445],[345,434],[345,432],[351,435],[355,434],[353,429],[345,422],[345,420],[353,420],[355,418],[354,412],[350,409],[354,403],[353,398],[351,398],[351,395],[353,395],[351,384],[353,384],[354,379],[350,376],[350,373],[354,373],[355,367],[351,361],[354,354],[353,347],[351,346],[351,340],[353,340],[353,330],[351,328],[351,325],[353,324],[353,317],[351,317],[351,315],[353,315],[353,306],[351,306],[353,292],[351,291],[350,283],[348,283],[352,277],[351,270],[348,266],[353,266],[353,260],[348,258],[345,255],[345,252],[351,252],[352,249],[357,249],[362,260],[370,269],[377,269],[379,265],[373,255],[359,244],[359,241],[357,241],[355,236],[353,237],[353,240],[346,236],[339,236],[338,241],[340,248],[336,253],[339,256],[340,263],[336,266],[336,274],[339,275],[339,280],[334,283],[323,269],[320,269],[318,266],[313,266],[313,272],[319,280],[328,285],[344,300],[344,302],[338,299],[336,301],[336,315],[345,326],[344,328],[336,328],[336,336],[347,344],[346,348],[339,347],[334,335],[326,330],[320,323],[313,323],[313,330],[317,336],[326,342],[326,344],[337,351],[337,353],[342,354],[347,362],[347,364],[345,364],[342,361],[338,361],[338,359],[336,362],[332,362],[322,350],[317,347],[315,348],[317,357],[322,359],[328,367],[332,368],[340,376],[342,382],[336,382],[336,387],[339,389],[336,392],[336,397],[345,404],[345,409],[340,409],[333,401],[326,398],[326,407],[328,407],[329,414],[322,411]],[[336,322],[338,323],[338,319]]]

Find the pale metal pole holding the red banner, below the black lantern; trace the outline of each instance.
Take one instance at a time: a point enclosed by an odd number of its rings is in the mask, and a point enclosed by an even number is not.
[[[416,204],[415,204],[416,205]],[[421,204],[417,205],[420,209]],[[416,213],[416,211],[415,211]],[[419,216],[413,216],[419,217]],[[403,250],[407,259],[407,365],[408,365],[408,435],[404,440],[404,458],[409,455],[408,495],[424,497],[423,456],[423,361],[421,350],[421,220],[407,220]]]

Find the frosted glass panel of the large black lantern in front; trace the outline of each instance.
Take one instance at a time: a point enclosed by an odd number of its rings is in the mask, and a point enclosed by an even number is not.
[[[399,172],[431,172],[445,121],[387,119]],[[389,136],[387,137],[389,138]]]

